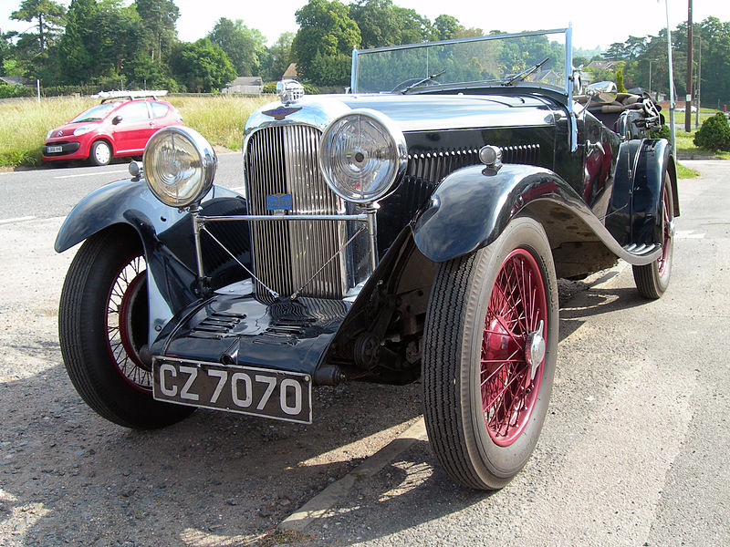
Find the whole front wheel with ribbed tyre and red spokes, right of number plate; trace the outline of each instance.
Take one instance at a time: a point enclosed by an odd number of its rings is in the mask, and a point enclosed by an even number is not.
[[[539,223],[518,218],[495,243],[440,265],[423,337],[423,414],[447,475],[493,490],[525,466],[557,348],[558,283]]]

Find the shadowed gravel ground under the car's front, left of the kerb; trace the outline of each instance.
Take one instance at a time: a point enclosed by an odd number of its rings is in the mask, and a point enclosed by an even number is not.
[[[311,425],[198,410],[133,431],[94,414],[63,366],[0,384],[0,544],[255,541],[407,428],[420,398],[352,384],[317,389]]]

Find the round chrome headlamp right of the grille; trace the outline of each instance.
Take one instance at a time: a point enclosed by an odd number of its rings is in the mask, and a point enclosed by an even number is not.
[[[319,142],[319,169],[329,188],[355,203],[377,201],[388,193],[407,158],[401,129],[370,109],[335,119]]]

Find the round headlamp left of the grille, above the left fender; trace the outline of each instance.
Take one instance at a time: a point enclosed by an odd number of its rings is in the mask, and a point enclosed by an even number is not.
[[[187,207],[213,185],[218,158],[203,135],[183,126],[160,129],[144,147],[147,185],[165,205]]]

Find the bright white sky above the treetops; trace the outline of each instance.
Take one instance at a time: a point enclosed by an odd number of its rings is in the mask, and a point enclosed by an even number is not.
[[[351,0],[345,0],[348,4]],[[687,19],[687,0],[668,0],[670,28]],[[61,0],[68,5],[70,0]],[[295,12],[307,0],[275,0],[261,2],[244,0],[175,0],[180,8],[177,21],[178,36],[192,42],[205,36],[220,17],[242,19],[245,26],[256,28],[266,36],[268,45],[282,32],[296,32]],[[438,15],[454,15],[464,26],[485,31],[505,32],[562,28],[573,25],[573,45],[584,49],[600,47],[605,50],[614,42],[624,42],[631,36],[657,35],[666,26],[664,0],[613,0],[599,3],[593,0],[516,0],[505,9],[502,3],[474,0],[393,0],[393,4],[414,9],[433,21]],[[27,29],[27,23],[10,20],[10,14],[20,0],[0,0],[0,30]],[[548,7],[546,7],[546,5]],[[606,7],[600,9],[600,5]],[[494,12],[494,13],[491,13]],[[518,13],[519,16],[515,16]],[[693,19],[700,22],[709,15],[730,21],[730,1],[694,0]]]

